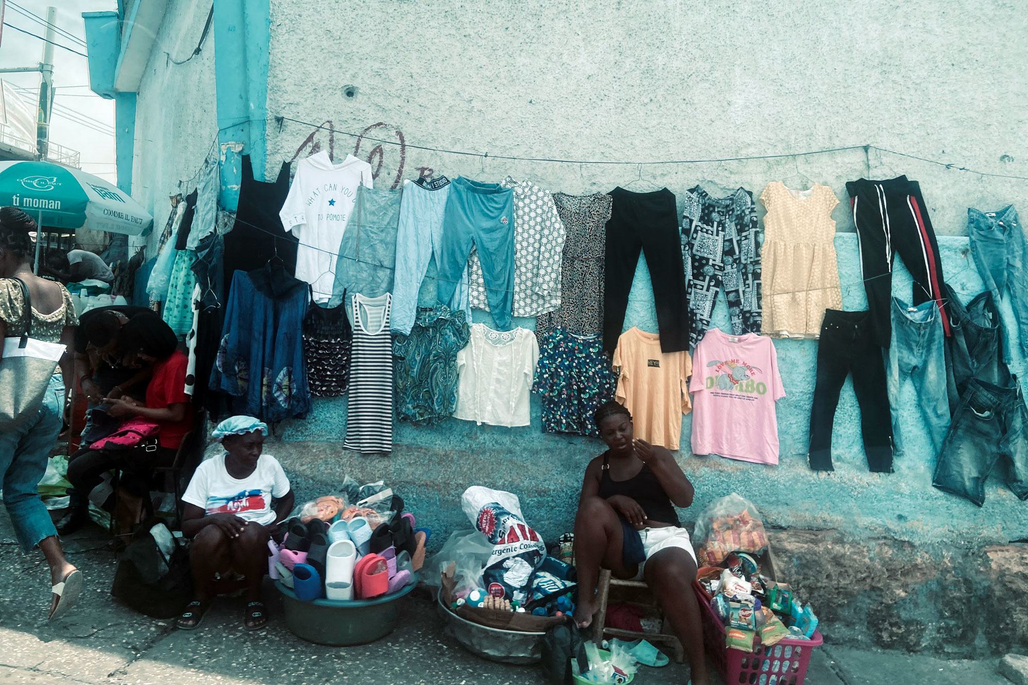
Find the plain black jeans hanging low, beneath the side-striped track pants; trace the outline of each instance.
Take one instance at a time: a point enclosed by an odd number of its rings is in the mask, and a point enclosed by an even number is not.
[[[892,472],[892,420],[885,390],[885,360],[874,336],[869,312],[825,310],[817,344],[817,378],[810,409],[810,468],[833,471],[832,424],[839,391],[853,374],[860,406],[860,431],[868,468]]]

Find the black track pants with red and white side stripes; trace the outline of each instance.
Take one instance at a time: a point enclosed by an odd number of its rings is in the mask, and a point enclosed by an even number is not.
[[[935,300],[943,329],[950,335],[950,319],[943,295],[943,262],[939,243],[917,181],[900,176],[887,181],[848,181],[850,208],[860,244],[860,271],[868,292],[874,339],[889,347],[889,300],[892,260],[898,254],[914,277],[913,304]]]

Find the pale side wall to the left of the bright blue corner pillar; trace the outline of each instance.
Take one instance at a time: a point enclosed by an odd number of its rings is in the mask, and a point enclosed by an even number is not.
[[[171,211],[169,195],[195,187],[195,175],[212,151],[218,130],[214,83],[214,42],[185,64],[204,30],[210,5],[189,0],[168,3],[136,101],[133,197],[153,215],[153,231],[132,238],[155,255],[157,237]],[[216,157],[215,157],[216,158]],[[192,179],[192,180],[190,180]]]

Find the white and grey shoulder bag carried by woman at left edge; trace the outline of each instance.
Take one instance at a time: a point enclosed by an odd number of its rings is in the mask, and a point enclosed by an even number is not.
[[[22,279],[13,279],[22,286],[25,324],[20,337],[6,337],[3,357],[0,358],[0,431],[16,428],[22,422],[36,416],[43,403],[58,362],[65,353],[60,342],[47,342],[32,337],[32,299]]]

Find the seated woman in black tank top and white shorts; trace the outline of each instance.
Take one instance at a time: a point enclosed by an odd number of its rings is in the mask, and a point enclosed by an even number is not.
[[[692,590],[696,554],[674,510],[693,503],[693,485],[670,452],[634,438],[632,416],[623,405],[602,404],[593,421],[608,450],[586,467],[575,519],[575,619],[581,627],[592,623],[600,567],[618,578],[641,578],[689,655],[693,685],[707,685],[700,608]]]

